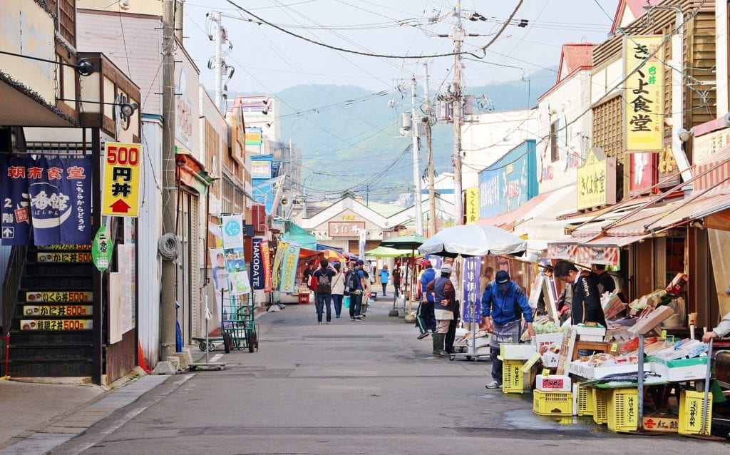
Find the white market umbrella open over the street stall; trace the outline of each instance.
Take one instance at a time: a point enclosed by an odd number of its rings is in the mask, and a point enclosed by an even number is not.
[[[520,254],[526,249],[526,240],[502,228],[485,224],[466,224],[443,229],[418,247],[421,254],[449,257]]]

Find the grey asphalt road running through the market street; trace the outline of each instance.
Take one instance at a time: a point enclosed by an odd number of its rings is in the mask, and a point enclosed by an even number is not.
[[[155,387],[53,454],[729,454],[730,444],[608,432],[487,390],[490,362],[434,359],[392,301],[316,325],[313,305],[258,318],[260,349]],[[199,354],[199,352],[198,352]]]

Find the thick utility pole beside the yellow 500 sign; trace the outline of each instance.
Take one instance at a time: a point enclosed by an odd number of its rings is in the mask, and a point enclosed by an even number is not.
[[[177,186],[175,181],[175,88],[174,23],[176,0],[164,1],[162,16],[162,232],[175,232]],[[162,260],[160,280],[160,360],[175,351],[175,282],[177,270],[173,259]]]

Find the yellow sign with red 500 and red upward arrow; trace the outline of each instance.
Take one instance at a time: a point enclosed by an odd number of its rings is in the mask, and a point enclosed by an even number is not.
[[[136,217],[139,212],[142,145],[107,142],[104,152],[101,215]]]

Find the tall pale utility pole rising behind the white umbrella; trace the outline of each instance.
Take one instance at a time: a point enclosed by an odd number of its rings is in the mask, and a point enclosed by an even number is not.
[[[464,40],[464,27],[461,26],[461,1],[456,2],[454,9],[456,16],[456,27],[453,31],[454,40],[454,80],[453,80],[453,97],[454,97],[454,215],[456,217],[456,226],[464,224],[464,196],[461,188],[461,112],[464,106],[461,100],[461,42]]]

